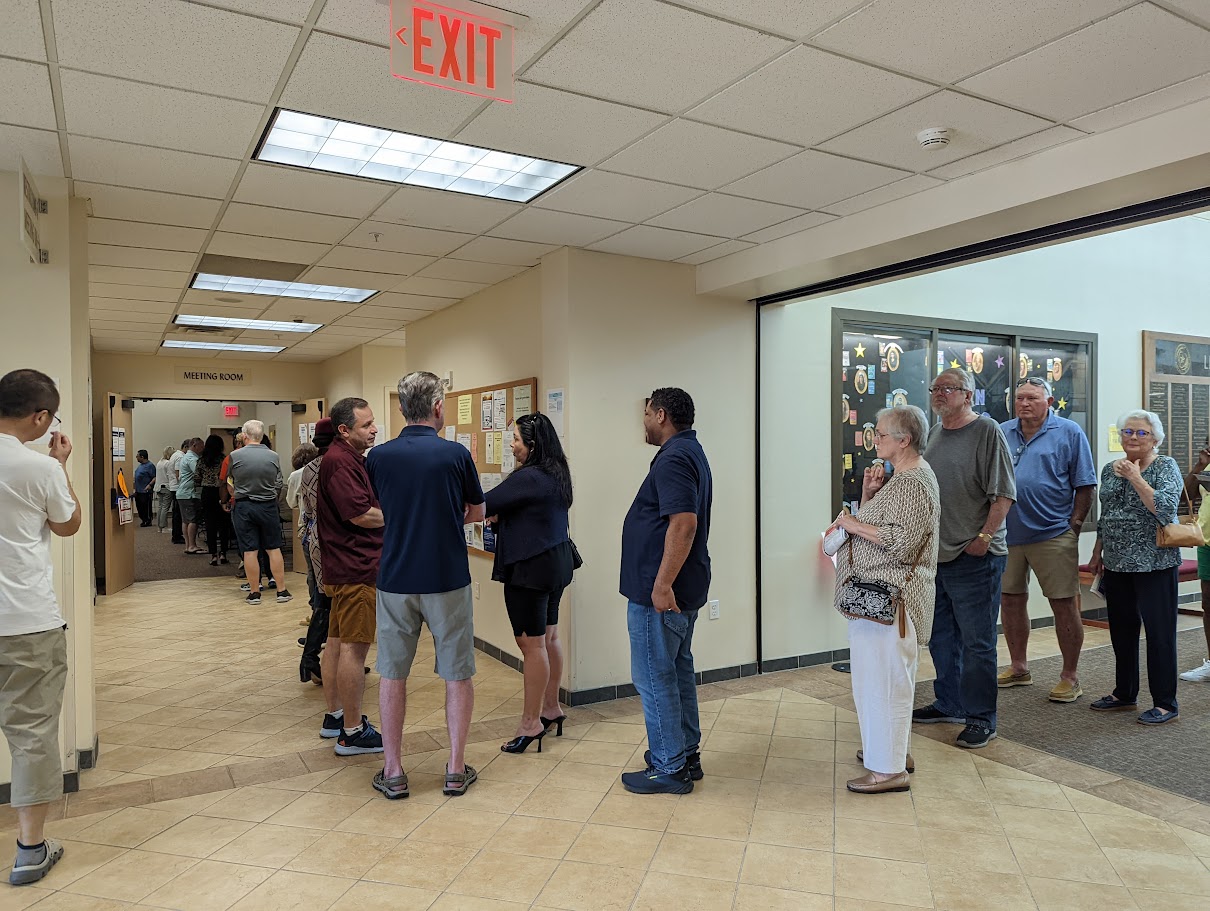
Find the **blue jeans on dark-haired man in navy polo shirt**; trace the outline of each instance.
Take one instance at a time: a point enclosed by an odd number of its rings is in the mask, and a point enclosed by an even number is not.
[[[679,772],[702,743],[692,652],[697,611],[659,613],[630,601],[626,619],[630,679],[643,699],[651,766],[657,772]]]

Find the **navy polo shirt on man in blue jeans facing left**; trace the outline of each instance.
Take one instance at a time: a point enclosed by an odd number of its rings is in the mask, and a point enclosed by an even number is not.
[[[697,515],[697,534],[685,565],[673,582],[676,606],[696,611],[710,590],[710,502],[713,480],[697,431],[681,431],[656,452],[647,477],[622,524],[622,572],[620,592],[635,604],[651,605],[651,592],[664,557],[668,518],[676,513]]]

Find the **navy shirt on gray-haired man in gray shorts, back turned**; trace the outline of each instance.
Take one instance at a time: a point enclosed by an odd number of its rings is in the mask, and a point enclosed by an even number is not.
[[[367,468],[386,523],[379,589],[431,594],[469,586],[462,519],[467,503],[483,502],[483,488],[466,448],[409,425],[370,450]]]

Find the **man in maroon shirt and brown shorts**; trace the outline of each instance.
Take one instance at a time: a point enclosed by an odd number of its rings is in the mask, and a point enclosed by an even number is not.
[[[382,753],[382,736],[362,714],[382,553],[382,509],[365,472],[365,451],[378,428],[363,398],[340,399],[328,416],[336,437],[319,465],[316,524],[332,615],[319,668],[324,690],[336,687],[336,699],[328,700],[334,710],[324,715],[319,733],[336,738],[338,756],[355,756]]]

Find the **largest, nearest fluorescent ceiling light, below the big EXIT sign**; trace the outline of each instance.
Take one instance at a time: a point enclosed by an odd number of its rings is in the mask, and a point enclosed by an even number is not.
[[[529,202],[580,171],[577,165],[444,143],[282,108],[273,116],[255,158],[513,202]]]

